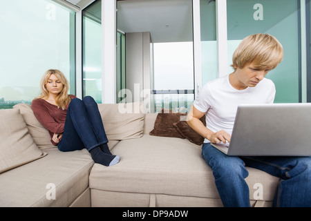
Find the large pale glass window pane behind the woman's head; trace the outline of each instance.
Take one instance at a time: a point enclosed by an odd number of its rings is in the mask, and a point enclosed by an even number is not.
[[[0,108],[30,104],[50,68],[62,70],[75,94],[74,12],[49,0],[3,1],[0,25]]]

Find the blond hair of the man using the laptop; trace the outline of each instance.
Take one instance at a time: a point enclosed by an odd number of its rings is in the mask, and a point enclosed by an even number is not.
[[[254,64],[260,70],[274,69],[283,60],[283,46],[272,35],[249,35],[241,41],[232,57],[234,70]]]

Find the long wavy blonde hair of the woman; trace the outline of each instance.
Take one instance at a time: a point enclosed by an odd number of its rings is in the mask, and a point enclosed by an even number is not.
[[[62,108],[63,110],[66,108],[67,104],[70,102],[70,96],[68,95],[69,84],[68,80],[66,79],[64,73],[57,69],[50,69],[47,70],[46,73],[41,78],[40,87],[41,87],[41,95],[37,97],[39,98],[47,98],[48,97],[48,90],[46,90],[46,84],[48,83],[48,79],[50,75],[55,75],[59,81],[63,84],[62,91],[57,95],[55,102],[58,108]]]

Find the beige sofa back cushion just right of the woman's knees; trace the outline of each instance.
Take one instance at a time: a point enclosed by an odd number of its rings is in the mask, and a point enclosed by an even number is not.
[[[140,112],[139,103],[98,104],[98,108],[108,140],[142,137],[144,113]]]

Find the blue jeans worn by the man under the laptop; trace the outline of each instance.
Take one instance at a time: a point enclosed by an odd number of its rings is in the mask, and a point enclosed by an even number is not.
[[[245,166],[280,178],[273,206],[311,206],[311,157],[236,157],[210,143],[203,144],[202,157],[213,171],[224,206],[250,206]]]

